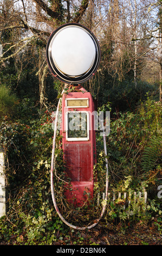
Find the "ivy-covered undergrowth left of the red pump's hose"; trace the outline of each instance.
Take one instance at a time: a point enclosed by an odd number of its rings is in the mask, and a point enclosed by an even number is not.
[[[7,228],[2,218],[0,237],[8,243],[14,233],[15,244],[50,245],[56,241],[55,232],[61,230],[62,222],[54,211],[50,193],[51,121],[50,112],[46,111],[37,119],[30,117],[28,125],[1,124],[0,142],[9,162],[7,211],[12,224]]]

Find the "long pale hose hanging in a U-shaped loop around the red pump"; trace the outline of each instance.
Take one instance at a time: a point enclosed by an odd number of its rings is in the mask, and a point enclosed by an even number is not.
[[[62,91],[62,94],[64,93],[64,89]],[[62,95],[61,94],[61,95]],[[61,98],[60,98],[61,99]],[[56,212],[59,215],[59,217],[61,218],[61,220],[67,224],[70,228],[73,229],[77,229],[77,230],[85,230],[85,229],[91,229],[93,227],[95,227],[99,221],[101,220],[105,209],[106,209],[106,205],[107,205],[107,192],[108,192],[108,163],[107,163],[107,158],[105,157],[105,161],[106,161],[106,191],[105,191],[105,203],[103,204],[103,208],[101,211],[101,215],[99,217],[99,219],[96,220],[96,222],[92,225],[86,226],[86,227],[77,227],[73,224],[70,224],[69,222],[67,222],[66,220],[64,220],[63,216],[61,215],[59,208],[57,207],[56,204],[56,199],[55,199],[55,194],[54,194],[54,181],[53,181],[53,169],[54,169],[54,157],[55,157],[55,146],[56,146],[56,132],[57,132],[57,121],[58,121],[58,114],[59,114],[59,106],[60,106],[60,99],[57,105],[57,110],[56,110],[56,118],[55,118],[55,127],[54,127],[54,138],[53,138],[53,150],[52,150],[52,156],[51,156],[51,172],[50,172],[50,183],[51,183],[51,196],[53,199],[53,204],[55,206]],[[102,122],[101,122],[102,124]],[[107,150],[106,150],[106,137],[105,137],[105,131],[103,129],[103,124],[102,124],[102,130],[103,130],[103,144],[104,144],[104,151],[105,151],[105,156],[107,156]]]

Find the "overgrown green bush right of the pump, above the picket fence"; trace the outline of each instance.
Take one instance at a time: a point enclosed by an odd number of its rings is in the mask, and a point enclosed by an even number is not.
[[[161,113],[161,103],[147,97],[134,113],[116,114],[107,137],[112,180],[116,182],[125,175],[133,175],[139,180],[141,175],[161,164]],[[146,154],[150,166],[144,161]]]

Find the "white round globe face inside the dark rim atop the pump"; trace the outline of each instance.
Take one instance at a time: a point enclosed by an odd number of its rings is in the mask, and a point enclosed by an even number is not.
[[[80,76],[94,63],[95,45],[92,38],[81,28],[65,27],[54,36],[51,55],[63,74]]]

